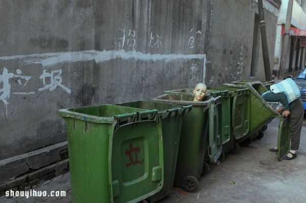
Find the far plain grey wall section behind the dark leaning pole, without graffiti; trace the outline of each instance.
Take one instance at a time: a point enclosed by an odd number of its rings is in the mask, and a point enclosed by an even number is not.
[[[250,79],[254,18],[258,13],[256,2],[212,1],[208,2],[208,26],[206,30],[205,53],[206,83],[221,85],[224,82]],[[265,10],[265,20],[273,67],[275,27],[277,17]],[[259,47],[257,80],[265,80],[261,41]]]

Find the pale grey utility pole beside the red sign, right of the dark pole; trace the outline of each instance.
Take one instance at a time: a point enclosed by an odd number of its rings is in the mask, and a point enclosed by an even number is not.
[[[282,54],[281,54],[281,62],[279,63],[279,72],[278,72],[278,79],[282,79],[285,76],[286,70],[286,62],[287,62],[287,55],[288,55],[288,48],[289,48],[289,30],[291,26],[291,18],[292,18],[292,8],[293,8],[293,0],[288,1],[288,9],[286,15],[286,22],[285,22],[285,34],[283,37],[283,44],[282,44]]]

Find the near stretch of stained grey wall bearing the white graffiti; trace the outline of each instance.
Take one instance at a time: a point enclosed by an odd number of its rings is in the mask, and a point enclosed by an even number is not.
[[[1,0],[0,159],[66,140],[59,108],[149,99],[202,81],[206,4]]]

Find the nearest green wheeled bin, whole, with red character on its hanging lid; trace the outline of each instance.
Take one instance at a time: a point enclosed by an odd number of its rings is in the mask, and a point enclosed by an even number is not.
[[[73,202],[137,202],[163,187],[157,110],[99,105],[58,110],[67,125]]]

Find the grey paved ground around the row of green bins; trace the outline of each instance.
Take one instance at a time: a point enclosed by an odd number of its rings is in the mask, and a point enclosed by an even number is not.
[[[291,161],[278,161],[269,148],[276,144],[278,120],[274,119],[261,140],[241,147],[239,154],[226,154],[220,165],[210,165],[196,193],[173,190],[164,202],[305,202],[306,118],[300,150]],[[0,202],[71,202],[69,173],[46,181],[36,191],[66,191],[65,197],[0,197]]]

